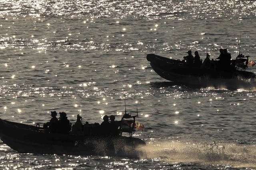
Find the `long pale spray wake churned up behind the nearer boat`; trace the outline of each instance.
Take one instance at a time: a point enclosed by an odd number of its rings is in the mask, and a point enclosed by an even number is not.
[[[143,147],[145,158],[162,158],[164,162],[227,165],[234,168],[256,167],[256,149],[237,143],[190,143],[164,141]],[[143,158],[143,157],[142,157]]]

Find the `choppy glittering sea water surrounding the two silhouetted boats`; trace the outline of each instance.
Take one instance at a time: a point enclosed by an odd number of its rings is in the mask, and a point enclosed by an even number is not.
[[[189,49],[214,59],[220,48],[256,60],[254,0],[0,0],[0,9],[1,119],[44,123],[56,110],[101,122],[124,113],[125,92],[147,143],[136,158],[20,154],[0,143],[2,169],[256,168],[255,82],[182,86],[146,60]]]

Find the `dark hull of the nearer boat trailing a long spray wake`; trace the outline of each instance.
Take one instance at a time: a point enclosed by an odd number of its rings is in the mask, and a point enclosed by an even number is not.
[[[132,137],[134,122],[124,128],[123,132],[130,133],[130,137],[126,137],[51,133],[39,124],[26,125],[0,119],[0,138],[21,153],[122,156],[127,148],[135,150],[146,145],[141,139]],[[91,130],[97,132],[96,127]]]

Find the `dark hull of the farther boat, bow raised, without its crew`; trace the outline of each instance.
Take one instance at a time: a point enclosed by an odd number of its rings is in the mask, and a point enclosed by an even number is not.
[[[245,67],[241,70],[234,65],[232,69],[218,69],[216,68],[217,61],[209,60],[210,65],[208,67],[204,63],[202,66],[196,67],[188,66],[184,61],[169,59],[155,54],[148,54],[146,58],[154,71],[162,78],[182,84],[194,83],[207,86],[208,83],[217,81],[250,81],[255,78],[255,74],[245,71]],[[234,61],[232,62],[234,63]]]

